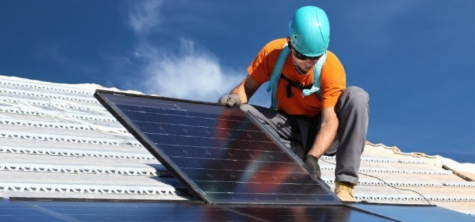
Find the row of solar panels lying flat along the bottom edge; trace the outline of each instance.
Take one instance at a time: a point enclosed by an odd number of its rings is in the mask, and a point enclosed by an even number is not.
[[[35,200],[35,201],[33,201]],[[226,205],[197,202],[0,199],[0,221],[475,221],[423,205]]]

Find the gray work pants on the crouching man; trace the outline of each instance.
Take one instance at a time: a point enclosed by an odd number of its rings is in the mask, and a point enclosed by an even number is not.
[[[243,111],[251,112],[266,125],[298,157],[303,159],[311,149],[318,130],[321,114],[315,117],[289,115],[257,105],[241,105]],[[365,90],[349,87],[342,92],[335,111],[338,131],[335,141],[325,155],[336,154],[336,181],[358,184],[360,157],[365,148],[368,128],[369,96]]]

